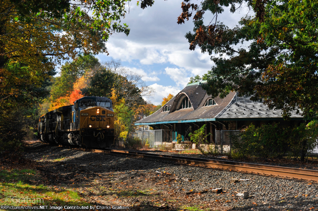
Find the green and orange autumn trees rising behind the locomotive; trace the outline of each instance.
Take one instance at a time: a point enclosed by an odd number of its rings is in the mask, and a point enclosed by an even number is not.
[[[127,145],[128,133],[134,129],[134,122],[148,112],[147,109],[156,107],[149,107],[142,98],[153,90],[144,85],[141,76],[124,69],[120,61],[100,64],[92,55],[80,55],[64,64],[60,75],[54,80],[45,112],[72,105],[83,96],[108,97],[115,112],[116,143]]]

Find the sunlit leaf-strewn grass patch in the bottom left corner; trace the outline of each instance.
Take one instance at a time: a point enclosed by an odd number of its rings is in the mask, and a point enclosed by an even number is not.
[[[10,206],[87,206],[77,192],[38,184],[40,175],[33,169],[0,170],[0,204]]]

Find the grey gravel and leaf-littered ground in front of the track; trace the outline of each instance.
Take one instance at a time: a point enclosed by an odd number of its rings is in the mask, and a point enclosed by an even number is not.
[[[312,181],[42,143],[28,146],[25,156],[41,165],[49,183],[76,190],[96,204],[129,206],[132,210],[318,210],[318,185]],[[222,193],[215,188],[222,188]],[[244,192],[248,193],[246,199]]]

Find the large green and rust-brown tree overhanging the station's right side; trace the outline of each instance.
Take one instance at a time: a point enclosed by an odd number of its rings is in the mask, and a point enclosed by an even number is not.
[[[178,23],[194,14],[194,33],[185,36],[190,49],[200,47],[215,63],[203,88],[212,97],[235,90],[271,109],[283,109],[285,117],[298,109],[316,118],[317,6],[316,1],[301,0],[183,1]],[[254,12],[230,28],[218,20],[226,7],[232,13],[242,7]],[[205,12],[212,13],[211,22],[204,21]]]

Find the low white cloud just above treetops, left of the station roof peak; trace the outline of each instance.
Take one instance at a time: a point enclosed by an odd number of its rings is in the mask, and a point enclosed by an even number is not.
[[[175,86],[162,86],[160,84],[154,83],[150,85],[153,89],[155,89],[155,95],[153,96],[152,99],[148,98],[145,99],[147,101],[152,102],[154,105],[159,105],[162,102],[162,98],[168,96],[169,94],[172,94],[175,96],[180,92],[180,89]]]

